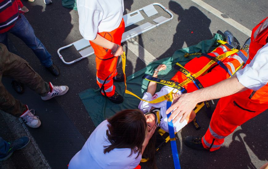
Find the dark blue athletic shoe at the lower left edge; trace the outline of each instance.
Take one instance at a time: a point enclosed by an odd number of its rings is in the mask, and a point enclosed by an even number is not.
[[[0,161],[4,161],[8,159],[14,151],[24,148],[29,142],[30,142],[30,137],[28,136],[24,136],[22,138],[19,138],[15,141],[10,142],[8,154],[5,157],[0,157]]]

